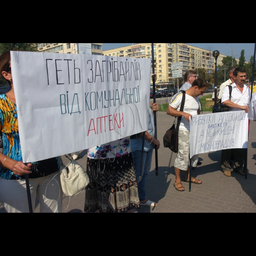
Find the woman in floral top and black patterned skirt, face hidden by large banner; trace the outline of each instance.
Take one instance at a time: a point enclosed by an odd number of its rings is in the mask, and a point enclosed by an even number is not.
[[[136,212],[139,208],[129,138],[89,148],[87,174],[85,212]]]

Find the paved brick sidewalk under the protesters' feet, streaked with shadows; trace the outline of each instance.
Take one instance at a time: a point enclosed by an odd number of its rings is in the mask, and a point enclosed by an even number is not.
[[[158,139],[161,147],[158,150],[159,176],[155,176],[155,155],[153,154],[150,175],[146,183],[147,198],[158,203],[157,207],[141,206],[139,212],[256,212],[256,128],[251,122],[248,146],[248,177],[231,172],[226,177],[221,171],[221,151],[200,154],[202,165],[192,170],[193,177],[203,184],[182,182],[184,192],[173,187],[175,181],[174,160],[176,154],[163,147],[163,135],[172,126],[174,118],[165,112],[159,112],[157,118]],[[65,159],[65,158],[63,158]],[[86,167],[86,150],[82,151],[78,162]],[[182,180],[185,172],[182,173]],[[64,197],[64,212],[83,212],[84,193],[68,198]],[[38,212],[39,202],[35,212]],[[0,205],[0,212],[3,207]]]

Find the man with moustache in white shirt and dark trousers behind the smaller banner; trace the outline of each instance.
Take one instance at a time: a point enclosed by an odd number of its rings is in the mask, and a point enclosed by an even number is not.
[[[245,113],[248,113],[250,89],[244,85],[246,70],[244,68],[236,68],[233,72],[233,79],[231,100],[229,99],[229,87],[226,86],[222,93],[221,102],[229,107],[229,111],[245,110]],[[245,160],[245,148],[234,148],[233,151],[235,159],[233,171],[245,175],[242,169]],[[230,157],[231,149],[221,151],[221,167],[227,177],[231,177]]]

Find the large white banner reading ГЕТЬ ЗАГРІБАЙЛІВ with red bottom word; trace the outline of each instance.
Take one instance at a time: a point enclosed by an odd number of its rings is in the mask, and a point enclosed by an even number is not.
[[[148,59],[11,52],[23,162],[147,130]]]

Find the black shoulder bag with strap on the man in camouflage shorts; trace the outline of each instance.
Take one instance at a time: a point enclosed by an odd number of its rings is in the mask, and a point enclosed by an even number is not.
[[[180,111],[182,112],[184,109],[185,105],[185,91],[182,91],[182,100],[181,100],[181,106],[180,106]],[[174,120],[173,126],[166,131],[165,136],[163,136],[163,146],[164,147],[169,147],[170,150],[172,150],[174,153],[178,152],[178,131],[180,127],[180,121],[181,121],[181,116],[178,117],[178,122],[177,126],[175,129],[175,123],[176,123],[176,118]]]

